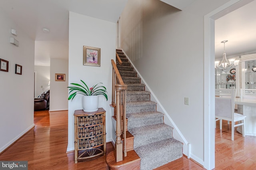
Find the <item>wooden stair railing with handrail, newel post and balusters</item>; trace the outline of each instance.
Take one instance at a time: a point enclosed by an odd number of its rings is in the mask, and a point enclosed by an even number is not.
[[[119,58],[116,53],[117,59]],[[120,59],[120,58],[119,58]],[[120,60],[121,61],[121,60]],[[122,61],[121,61],[122,62]],[[113,67],[112,74],[112,107],[115,107],[115,118],[116,118],[116,142],[115,142],[115,157],[116,162],[123,160],[123,152],[124,156],[127,156],[126,152],[126,90],[127,85],[124,84],[122,77],[116,67],[115,61],[111,60]],[[120,64],[120,63],[119,63]],[[123,119],[122,119],[123,118]],[[123,127],[121,127],[121,122],[123,123]],[[121,142],[121,134],[124,138],[123,143]],[[124,148],[124,150],[123,150]]]

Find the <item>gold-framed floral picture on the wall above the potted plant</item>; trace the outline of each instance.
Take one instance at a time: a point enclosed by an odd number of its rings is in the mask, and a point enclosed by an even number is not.
[[[84,46],[84,65],[100,66],[100,48]]]

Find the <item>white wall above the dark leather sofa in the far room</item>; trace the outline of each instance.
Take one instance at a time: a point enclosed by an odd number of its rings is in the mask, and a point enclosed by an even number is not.
[[[38,97],[43,91],[46,92],[50,89],[50,66],[35,65],[34,71],[36,73],[35,82],[35,97]]]

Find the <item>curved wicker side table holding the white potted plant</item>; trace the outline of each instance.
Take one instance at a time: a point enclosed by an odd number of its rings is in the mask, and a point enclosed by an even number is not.
[[[75,163],[81,159],[106,154],[106,127],[103,108],[95,112],[76,110],[75,119]]]

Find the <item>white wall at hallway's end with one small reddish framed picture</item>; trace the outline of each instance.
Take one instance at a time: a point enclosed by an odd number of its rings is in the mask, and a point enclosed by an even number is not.
[[[68,60],[50,59],[50,109],[68,110]],[[55,81],[55,73],[66,74],[66,81]]]

